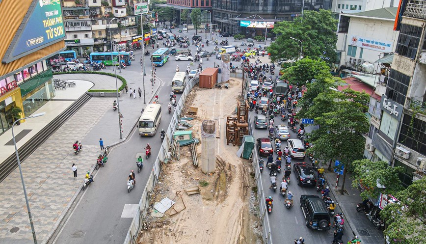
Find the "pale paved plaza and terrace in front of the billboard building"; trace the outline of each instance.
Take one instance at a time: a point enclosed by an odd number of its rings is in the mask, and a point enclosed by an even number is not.
[[[132,86],[142,86],[142,81],[138,79],[140,73],[126,71],[120,75],[127,81],[134,82]],[[113,77],[102,76],[100,78],[99,75],[86,76],[84,74],[65,76],[67,77],[61,77],[61,79],[76,80],[77,86],[58,90],[53,101],[49,101],[36,111],[36,113],[46,111],[45,116],[28,119],[21,126],[15,128],[15,135],[26,128],[32,130],[19,141],[18,146],[40,131],[44,125],[70,106],[87,89],[94,86],[98,86],[98,89],[108,89],[108,87],[115,89],[115,78]],[[150,79],[148,74],[147,78]],[[118,85],[121,85],[121,81]],[[160,82],[156,82],[153,87],[154,91],[159,87]],[[146,91],[146,98],[148,103],[152,98],[151,90]],[[39,244],[47,242],[80,192],[84,174],[88,170],[92,171],[96,157],[101,152],[99,138],[103,138],[104,145],[123,141],[134,128],[134,124],[140,116],[140,110],[145,107],[143,96],[133,99],[124,92],[119,99],[120,112],[124,116],[123,139],[120,140],[118,112],[112,110],[113,100],[115,98],[92,97],[42,146],[22,162],[27,195]],[[3,143],[11,138],[10,131],[8,131],[0,136],[0,142]],[[72,150],[75,140],[79,140],[83,144],[83,151],[78,155],[75,155]],[[13,146],[4,146],[4,143],[0,144],[0,151],[0,156],[3,156],[3,152],[6,151],[10,152],[7,156],[14,153]],[[73,176],[71,170],[73,163],[77,164],[78,178]],[[33,243],[18,168],[0,183],[0,243]]]

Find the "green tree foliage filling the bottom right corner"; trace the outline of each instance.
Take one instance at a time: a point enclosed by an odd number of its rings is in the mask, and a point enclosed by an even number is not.
[[[383,233],[391,244],[426,243],[426,178],[394,196],[400,202],[388,204],[380,212],[387,225]]]

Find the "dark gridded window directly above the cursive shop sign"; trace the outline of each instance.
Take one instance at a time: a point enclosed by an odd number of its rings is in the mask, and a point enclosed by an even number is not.
[[[399,104],[404,104],[410,79],[411,77],[391,69],[386,86],[386,95],[388,98]]]

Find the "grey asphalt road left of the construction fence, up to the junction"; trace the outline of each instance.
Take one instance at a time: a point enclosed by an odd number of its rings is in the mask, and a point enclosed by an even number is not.
[[[189,33],[180,33],[182,36],[191,37],[195,31]],[[177,33],[177,30],[173,30]],[[204,33],[203,33],[203,42]],[[210,35],[209,35],[210,36]],[[229,38],[228,39],[232,39]],[[220,38],[219,38],[220,40]],[[190,46],[192,54],[195,54],[195,46]],[[204,48],[207,51],[213,51],[214,46]],[[152,53],[152,49],[148,49]],[[131,66],[128,66],[122,72],[127,70],[141,71],[141,66],[138,62],[141,50],[135,52],[135,61]],[[145,70],[151,72],[149,57],[145,56]],[[203,68],[213,67],[217,59],[210,58],[207,61],[203,58]],[[160,128],[168,127],[172,114],[168,114],[167,104],[169,103],[171,79],[175,74],[176,65],[179,65],[180,71],[185,71],[189,61],[176,61],[174,57],[163,66],[157,68],[157,77],[162,80],[162,84],[157,94],[160,97],[162,105],[162,119]],[[193,69],[196,69],[198,63],[194,63]],[[141,79],[142,80],[142,79]],[[148,85],[147,85],[148,84]],[[137,86],[142,87],[142,81]],[[145,79],[145,87],[150,86],[149,78]],[[177,99],[180,99],[180,94],[177,94]],[[148,102],[148,101],[147,101]],[[143,108],[143,105],[140,105]],[[115,122],[115,121],[114,121]],[[111,122],[113,123],[113,122]],[[93,130],[96,130],[96,126]],[[99,132],[105,133],[105,132]],[[100,168],[94,175],[94,182],[84,191],[80,200],[76,203],[71,216],[65,220],[65,224],[54,240],[60,244],[121,244],[129,230],[132,222],[131,217],[122,218],[121,214],[126,204],[138,204],[142,195],[142,187],[145,186],[150,170],[152,169],[156,155],[160,148],[160,135],[153,137],[140,137],[138,131],[133,130],[127,140],[112,148],[108,156],[108,162],[105,167]],[[144,160],[142,171],[137,174],[136,155],[139,153],[145,154],[143,148],[146,143],[150,143],[152,147],[152,155],[148,160]],[[127,177],[131,170],[136,170],[136,185],[135,188],[127,192]]]

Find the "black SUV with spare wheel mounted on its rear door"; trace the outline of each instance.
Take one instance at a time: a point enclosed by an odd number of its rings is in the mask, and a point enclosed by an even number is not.
[[[300,207],[305,216],[305,224],[317,230],[330,229],[330,216],[324,201],[316,195],[301,195]]]

